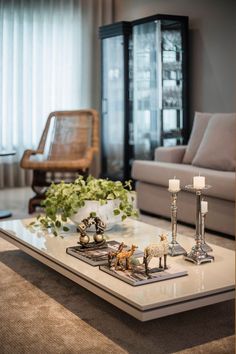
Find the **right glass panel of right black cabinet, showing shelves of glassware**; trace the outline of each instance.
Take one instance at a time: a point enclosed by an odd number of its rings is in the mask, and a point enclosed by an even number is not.
[[[161,145],[183,143],[183,44],[181,23],[162,22]]]

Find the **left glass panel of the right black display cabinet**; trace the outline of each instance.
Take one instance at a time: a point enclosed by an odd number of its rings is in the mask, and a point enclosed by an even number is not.
[[[132,38],[134,159],[150,160],[161,135],[160,21],[135,25]]]

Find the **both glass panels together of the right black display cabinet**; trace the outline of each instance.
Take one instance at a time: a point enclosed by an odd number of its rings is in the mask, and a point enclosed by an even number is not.
[[[135,25],[132,41],[134,159],[150,160],[157,146],[183,143],[181,23],[155,20]]]

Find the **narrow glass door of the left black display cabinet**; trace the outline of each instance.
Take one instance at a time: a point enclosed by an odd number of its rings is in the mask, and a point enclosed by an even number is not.
[[[123,36],[102,41],[103,174],[122,179],[124,172]]]

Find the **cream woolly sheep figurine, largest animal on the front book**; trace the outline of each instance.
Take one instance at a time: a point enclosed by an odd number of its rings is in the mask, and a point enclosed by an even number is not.
[[[162,257],[164,256],[164,269],[168,269],[167,264],[166,264],[166,259],[167,259],[167,254],[169,251],[169,244],[167,240],[167,235],[166,234],[161,234],[160,235],[160,242],[159,243],[154,243],[149,246],[147,246],[144,250],[144,257],[143,257],[143,263],[145,265],[145,271],[146,274],[148,275],[148,264],[150,263],[151,259],[153,257],[159,258],[159,268],[163,269],[161,261]]]

